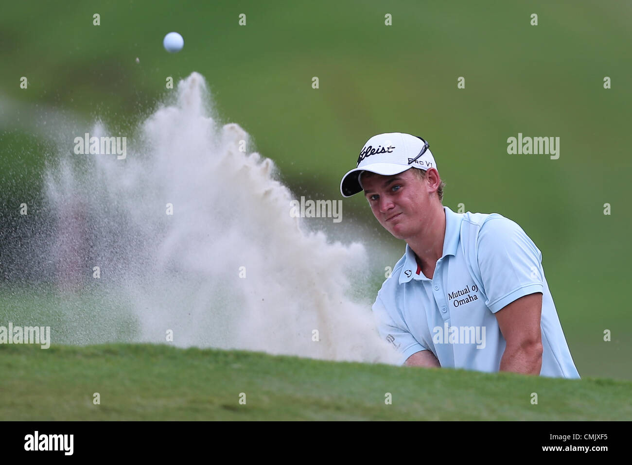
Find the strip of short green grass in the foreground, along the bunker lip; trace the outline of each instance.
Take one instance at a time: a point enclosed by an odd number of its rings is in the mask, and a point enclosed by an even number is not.
[[[632,419],[630,382],[245,351],[3,345],[0,371],[2,420]],[[99,405],[93,403],[95,392]],[[242,392],[246,404],[239,403]],[[531,403],[533,392],[537,405]]]

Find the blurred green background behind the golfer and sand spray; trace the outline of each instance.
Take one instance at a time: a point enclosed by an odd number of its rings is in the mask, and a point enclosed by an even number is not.
[[[56,123],[133,128],[174,92],[167,76],[177,82],[198,71],[217,115],[248,131],[297,198],[342,198],[341,176],[370,136],[401,131],[428,140],[447,183],[444,205],[499,212],[542,251],[580,375],[632,379],[632,4],[135,0],[0,8],[5,217],[25,199],[40,205]],[[246,26],[238,25],[241,13]],[[171,31],[185,39],[178,54],[162,48]],[[559,159],[507,154],[507,138],[518,133],[559,136]],[[343,212],[339,227],[370,234],[389,250],[384,266],[394,265],[404,243],[379,227],[366,201],[344,199]],[[384,267],[371,273],[377,293]]]

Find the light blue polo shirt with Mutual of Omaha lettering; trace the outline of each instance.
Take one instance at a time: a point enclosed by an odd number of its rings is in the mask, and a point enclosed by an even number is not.
[[[429,350],[444,368],[499,371],[506,341],[494,313],[542,293],[540,375],[579,378],[533,241],[502,215],[444,211],[443,255],[433,278],[406,245],[373,305],[380,335],[401,363]]]

